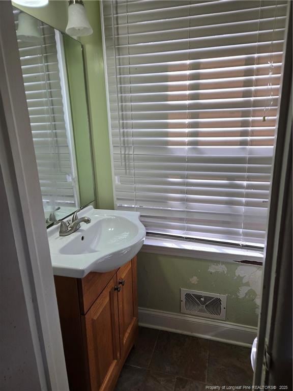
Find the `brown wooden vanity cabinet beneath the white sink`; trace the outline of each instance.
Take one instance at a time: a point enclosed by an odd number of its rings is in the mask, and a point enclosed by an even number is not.
[[[54,276],[70,391],[111,391],[138,331],[136,257],[84,278]]]

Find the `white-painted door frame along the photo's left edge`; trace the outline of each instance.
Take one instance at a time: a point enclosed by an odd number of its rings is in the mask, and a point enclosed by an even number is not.
[[[4,184],[0,191],[7,195],[17,252],[16,259],[5,261],[18,263],[37,362],[34,376],[39,377],[44,391],[67,391],[53,270],[10,1],[0,1],[0,75],[0,168]],[[5,227],[2,221],[1,229]],[[2,243],[4,249],[9,245]],[[14,276],[10,277],[13,280]],[[2,297],[5,299],[9,297]],[[13,348],[9,353],[13,355]],[[14,359],[17,363],[22,357]]]

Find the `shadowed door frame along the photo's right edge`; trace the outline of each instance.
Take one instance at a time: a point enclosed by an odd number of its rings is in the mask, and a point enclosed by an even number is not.
[[[290,315],[280,313],[283,309],[292,311],[290,300],[291,281],[286,276],[292,270],[292,3],[288,5],[288,20],[286,26],[286,40],[284,43],[284,62],[282,66],[282,89],[278,112],[277,141],[274,156],[274,171],[270,198],[270,212],[265,249],[265,267],[262,278],[262,298],[260,317],[258,321],[258,343],[256,354],[256,368],[254,385],[287,385],[285,383],[284,352],[286,351],[281,334],[288,333],[291,322]],[[290,245],[291,243],[291,245]],[[289,251],[291,250],[291,254]],[[286,249],[286,252],[284,252]],[[284,267],[287,273],[284,272]],[[290,273],[291,274],[291,273]],[[278,303],[280,295],[285,301]],[[290,297],[289,297],[290,296]],[[285,322],[286,328],[280,327]],[[288,338],[291,336],[283,335]],[[276,348],[276,341],[282,341]],[[289,349],[289,347],[288,347]],[[277,382],[282,371],[281,384]],[[286,362],[288,366],[288,362]],[[286,371],[288,367],[286,367]],[[290,371],[291,372],[291,371]],[[273,375],[274,373],[274,375]],[[288,372],[286,372],[288,376]],[[288,388],[289,389],[289,388]]]

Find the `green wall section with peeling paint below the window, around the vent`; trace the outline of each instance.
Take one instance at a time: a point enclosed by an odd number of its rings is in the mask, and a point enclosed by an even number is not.
[[[257,326],[259,266],[138,254],[138,303],[180,313],[180,288],[227,295],[227,322]]]

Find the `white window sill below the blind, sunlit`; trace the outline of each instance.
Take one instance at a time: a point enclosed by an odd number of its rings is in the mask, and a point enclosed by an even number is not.
[[[192,243],[183,240],[146,237],[143,253],[164,254],[177,257],[207,259],[210,261],[239,262],[261,265],[261,250],[235,248],[228,245]]]

